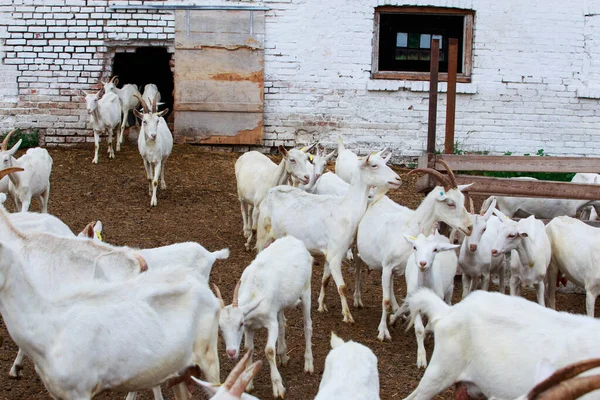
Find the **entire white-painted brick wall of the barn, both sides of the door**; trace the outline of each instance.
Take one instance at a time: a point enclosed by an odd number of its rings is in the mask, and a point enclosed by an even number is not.
[[[78,89],[110,75],[107,51],[120,43],[172,43],[172,13],[112,12],[108,3],[44,0],[34,7],[33,0],[0,0],[3,126],[40,128],[47,143],[85,140],[90,132]],[[370,78],[374,8],[413,4],[475,10],[472,83],[459,84],[457,96],[456,137],[465,148],[600,156],[596,3],[264,0],[271,8],[264,144],[320,138],[333,145],[342,134],[360,151],[388,145],[398,155],[421,154],[428,83]],[[441,145],[445,84],[440,91]]]

